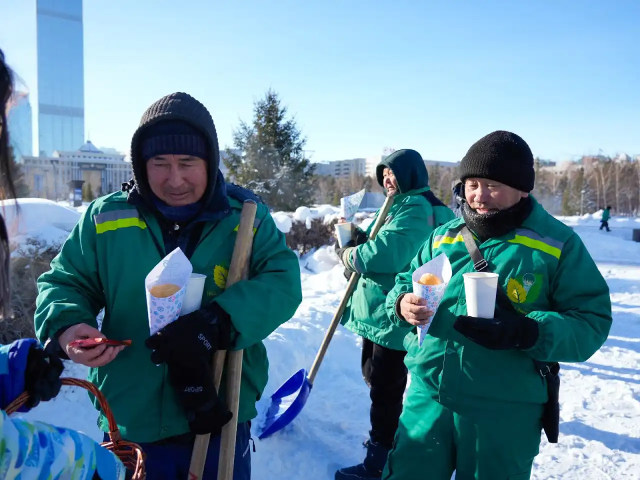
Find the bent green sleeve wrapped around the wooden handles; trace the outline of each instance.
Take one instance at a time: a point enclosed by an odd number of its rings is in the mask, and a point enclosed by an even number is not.
[[[260,225],[253,237],[250,279],[229,286],[216,302],[236,330],[232,348],[243,350],[266,339],[289,320],[302,302],[300,262],[266,207],[259,205]]]

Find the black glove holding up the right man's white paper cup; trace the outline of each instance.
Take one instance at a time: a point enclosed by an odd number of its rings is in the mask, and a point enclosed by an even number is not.
[[[526,350],[538,341],[538,322],[516,312],[496,311],[496,318],[461,315],[453,328],[489,350]]]

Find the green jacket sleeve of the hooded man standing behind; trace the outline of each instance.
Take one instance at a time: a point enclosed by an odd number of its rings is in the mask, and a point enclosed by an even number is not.
[[[401,272],[432,230],[431,205],[422,197],[408,197],[376,238],[353,249],[353,268],[360,274]]]

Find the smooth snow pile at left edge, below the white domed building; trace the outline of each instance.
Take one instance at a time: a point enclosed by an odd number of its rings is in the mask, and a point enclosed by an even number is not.
[[[40,198],[0,201],[0,213],[11,242],[19,245],[29,238],[49,245],[62,243],[80,219],[77,210]]]

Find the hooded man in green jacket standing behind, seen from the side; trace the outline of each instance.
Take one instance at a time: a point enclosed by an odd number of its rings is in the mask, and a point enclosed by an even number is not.
[[[336,480],[374,479],[382,474],[402,411],[407,380],[403,338],[408,332],[389,321],[385,297],[396,274],[408,267],[431,231],[454,218],[429,189],[429,175],[417,151],[394,152],[378,165],[376,176],[387,195],[394,196],[385,224],[374,240],[368,240],[374,222],[366,232],[356,229],[352,242],[337,250],[347,276],[362,274],[342,323],[362,336],[362,375],[371,389],[371,431],[364,462],[341,468]]]

